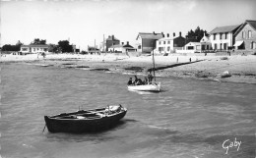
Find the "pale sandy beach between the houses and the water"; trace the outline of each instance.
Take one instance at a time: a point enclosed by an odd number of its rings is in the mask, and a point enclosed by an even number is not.
[[[156,72],[157,77],[177,77],[193,79],[212,79],[217,81],[256,83],[256,56],[233,55],[215,56],[203,54],[155,56],[156,68],[177,63],[191,64],[163,69]],[[1,63],[26,62],[42,67],[62,67],[89,69],[96,71],[111,71],[116,73],[147,75],[148,69],[153,68],[152,56],[128,57],[126,55],[101,54],[48,54],[45,58],[32,55],[2,55]],[[195,61],[200,61],[193,63]],[[229,78],[221,75],[228,71]]]

